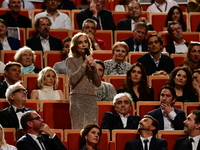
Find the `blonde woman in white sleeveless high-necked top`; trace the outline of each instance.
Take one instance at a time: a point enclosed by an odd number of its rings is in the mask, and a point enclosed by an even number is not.
[[[50,100],[64,100],[64,94],[61,90],[56,90],[58,87],[58,75],[51,67],[45,67],[38,74],[39,90],[33,90],[31,99],[50,99]]]

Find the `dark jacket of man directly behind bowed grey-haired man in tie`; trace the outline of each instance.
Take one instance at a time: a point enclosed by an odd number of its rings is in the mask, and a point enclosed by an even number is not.
[[[120,20],[117,24],[117,30],[131,30],[131,18]],[[154,28],[151,24],[148,25],[148,30],[154,31]]]

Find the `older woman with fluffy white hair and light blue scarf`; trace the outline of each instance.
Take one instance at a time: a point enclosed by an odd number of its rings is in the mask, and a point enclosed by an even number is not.
[[[34,66],[36,60],[35,52],[24,46],[16,51],[14,59],[22,64],[21,73],[39,73],[42,69]]]

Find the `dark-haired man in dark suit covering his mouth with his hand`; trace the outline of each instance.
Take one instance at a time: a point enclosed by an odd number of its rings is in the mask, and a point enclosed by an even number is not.
[[[148,112],[159,122],[159,130],[183,130],[185,112],[174,108],[176,91],[170,85],[163,86],[159,93],[160,108]]]

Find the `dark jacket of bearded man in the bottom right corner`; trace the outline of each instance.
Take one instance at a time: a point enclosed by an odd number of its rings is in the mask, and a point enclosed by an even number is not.
[[[188,136],[179,138],[176,140],[173,150],[189,150],[189,139]],[[200,141],[198,143],[197,149],[200,150]]]

